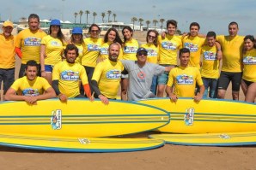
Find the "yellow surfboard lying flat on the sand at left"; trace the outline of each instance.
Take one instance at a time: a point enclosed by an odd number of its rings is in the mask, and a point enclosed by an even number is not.
[[[159,148],[163,140],[149,138],[52,137],[0,133],[0,145],[64,152],[125,152]]]

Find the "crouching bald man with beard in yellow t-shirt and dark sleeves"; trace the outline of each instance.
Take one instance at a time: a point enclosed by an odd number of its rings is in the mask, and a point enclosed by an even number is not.
[[[121,72],[124,67],[118,61],[120,45],[113,43],[108,48],[108,59],[98,63],[92,79],[95,97],[108,104],[108,99],[116,99],[119,91]]]

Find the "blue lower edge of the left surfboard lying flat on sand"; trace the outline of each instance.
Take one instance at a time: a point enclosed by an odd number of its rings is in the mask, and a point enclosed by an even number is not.
[[[165,143],[162,142],[162,144],[156,144],[155,146],[134,148],[134,149],[74,149],[74,148],[33,146],[33,145],[25,145],[25,144],[8,144],[8,143],[0,142],[0,145],[8,146],[8,147],[15,147],[15,148],[21,148],[21,149],[39,149],[39,150],[48,150],[48,151],[63,151],[63,152],[131,152],[131,151],[140,151],[140,150],[147,150],[147,149],[156,149],[156,148],[162,147],[164,144]]]

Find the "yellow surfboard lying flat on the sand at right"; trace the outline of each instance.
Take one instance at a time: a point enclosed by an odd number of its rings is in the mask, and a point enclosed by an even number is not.
[[[155,134],[149,138],[162,139],[167,144],[195,146],[256,145],[256,132],[221,132],[200,134]]]

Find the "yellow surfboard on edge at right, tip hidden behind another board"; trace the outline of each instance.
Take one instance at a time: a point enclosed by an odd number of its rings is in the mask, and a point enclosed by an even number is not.
[[[138,101],[165,109],[171,122],[160,132],[207,133],[256,131],[256,104],[221,99],[204,99],[199,103],[192,98],[179,98],[176,103],[169,98]]]

